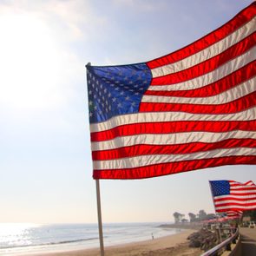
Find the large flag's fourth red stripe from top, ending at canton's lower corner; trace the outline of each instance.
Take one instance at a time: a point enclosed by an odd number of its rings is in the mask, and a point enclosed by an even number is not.
[[[218,105],[141,102],[141,112],[180,111],[194,114],[237,113],[256,105],[256,91],[238,100]]]

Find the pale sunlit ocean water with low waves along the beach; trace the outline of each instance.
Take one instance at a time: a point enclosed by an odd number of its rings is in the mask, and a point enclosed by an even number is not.
[[[163,223],[103,224],[104,246],[151,240],[180,229],[163,228]],[[164,223],[166,224],[166,223]],[[0,255],[23,255],[99,247],[97,224],[0,223]]]

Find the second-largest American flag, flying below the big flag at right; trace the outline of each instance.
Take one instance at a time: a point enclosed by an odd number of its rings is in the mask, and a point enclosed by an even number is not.
[[[216,213],[233,212],[238,215],[256,209],[256,185],[253,181],[244,184],[237,181],[210,181],[210,187]]]

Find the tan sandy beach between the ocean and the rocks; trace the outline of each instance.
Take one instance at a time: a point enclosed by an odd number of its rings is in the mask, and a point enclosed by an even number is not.
[[[194,233],[194,230],[184,230],[181,233],[166,237],[147,240],[142,242],[129,243],[120,246],[105,247],[105,256],[197,256],[202,252],[198,248],[188,247],[187,236]],[[39,255],[39,254],[34,254]],[[99,256],[99,249],[86,249],[72,252],[44,253],[44,256]],[[31,256],[31,254],[30,254]]]

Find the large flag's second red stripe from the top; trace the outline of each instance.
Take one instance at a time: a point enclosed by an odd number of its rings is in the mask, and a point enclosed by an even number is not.
[[[255,42],[256,33],[254,32],[252,35],[247,36],[245,39],[240,41],[240,43],[234,44],[229,49],[226,49],[217,56],[213,56],[205,62],[200,62],[189,69],[181,70],[173,74],[154,77],[151,84],[160,86],[174,84],[204,75],[213,71],[214,69],[219,68],[222,64],[229,62],[231,59],[244,54],[248,49],[251,49],[255,45]]]

